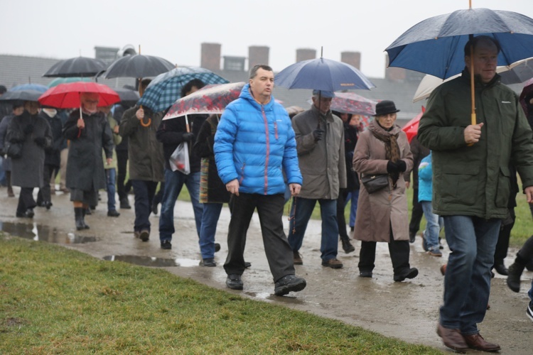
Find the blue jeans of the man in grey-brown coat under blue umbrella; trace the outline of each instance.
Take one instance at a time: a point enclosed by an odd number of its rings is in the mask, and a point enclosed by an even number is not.
[[[295,197],[291,207],[291,216],[294,218],[291,219],[289,226],[289,244],[293,251],[300,250],[307,224],[317,201],[321,205],[322,218],[321,258],[323,261],[328,261],[337,257],[339,245],[337,200],[313,200]]]

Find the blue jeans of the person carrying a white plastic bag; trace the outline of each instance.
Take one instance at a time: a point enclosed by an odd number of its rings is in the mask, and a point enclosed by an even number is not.
[[[161,241],[172,240],[172,234],[176,231],[174,229],[174,206],[183,184],[189,191],[190,202],[193,203],[196,232],[198,237],[200,237],[203,214],[203,206],[198,200],[200,195],[200,172],[185,175],[178,170],[165,169],[165,191],[163,192],[161,216],[159,217],[159,239]]]

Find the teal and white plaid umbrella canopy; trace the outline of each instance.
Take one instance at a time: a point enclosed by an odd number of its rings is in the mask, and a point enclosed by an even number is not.
[[[158,75],[146,87],[139,105],[154,112],[164,111],[181,97],[181,88],[190,80],[199,79],[204,84],[226,84],[229,81],[203,67],[177,67]]]

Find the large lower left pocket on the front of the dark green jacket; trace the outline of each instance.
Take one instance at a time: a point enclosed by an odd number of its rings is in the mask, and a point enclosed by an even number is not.
[[[479,167],[476,165],[453,164],[443,167],[441,199],[443,203],[475,204],[478,192]]]

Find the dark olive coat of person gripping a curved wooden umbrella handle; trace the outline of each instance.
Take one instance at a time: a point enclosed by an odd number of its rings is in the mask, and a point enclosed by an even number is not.
[[[138,109],[138,106],[127,109],[122,115],[119,128],[120,135],[129,140],[129,179],[163,181],[165,180],[163,145],[156,138],[163,114],[161,112],[154,114],[144,107],[144,122],[151,119],[150,126],[144,127],[136,117]]]

